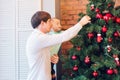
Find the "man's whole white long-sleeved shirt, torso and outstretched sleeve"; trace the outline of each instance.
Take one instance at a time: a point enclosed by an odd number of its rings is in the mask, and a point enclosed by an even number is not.
[[[60,34],[48,35],[34,29],[26,44],[30,67],[27,80],[51,80],[50,48],[76,36],[82,26],[78,23]]]

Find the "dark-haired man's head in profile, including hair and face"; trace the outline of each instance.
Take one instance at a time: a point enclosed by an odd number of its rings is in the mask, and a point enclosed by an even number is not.
[[[38,11],[32,16],[31,24],[34,29],[38,28],[44,33],[47,33],[52,27],[51,16],[48,12]]]

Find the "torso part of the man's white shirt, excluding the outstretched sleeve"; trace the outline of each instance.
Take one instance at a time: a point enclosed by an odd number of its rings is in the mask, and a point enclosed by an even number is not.
[[[39,31],[34,30],[27,41],[26,50],[30,66],[27,80],[51,80],[49,47],[38,48],[37,40],[40,35],[42,34]]]

